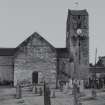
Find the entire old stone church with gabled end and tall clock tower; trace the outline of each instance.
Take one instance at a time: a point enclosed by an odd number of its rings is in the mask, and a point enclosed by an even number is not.
[[[89,26],[86,10],[68,10],[66,47],[55,48],[33,33],[16,48],[0,48],[0,81],[41,83],[54,87],[74,75],[86,79],[89,65]]]

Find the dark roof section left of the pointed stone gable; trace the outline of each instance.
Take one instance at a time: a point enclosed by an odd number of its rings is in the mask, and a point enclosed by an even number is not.
[[[15,48],[0,48],[0,56],[13,56]]]

